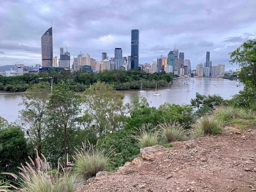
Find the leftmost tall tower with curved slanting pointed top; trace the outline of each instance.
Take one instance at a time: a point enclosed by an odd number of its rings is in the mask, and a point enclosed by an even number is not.
[[[41,47],[42,47],[42,66],[52,67],[52,27],[45,31],[44,35],[41,37]]]

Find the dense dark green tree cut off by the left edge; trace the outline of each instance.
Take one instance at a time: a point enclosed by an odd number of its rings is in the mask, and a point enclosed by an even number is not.
[[[17,172],[17,166],[28,156],[27,139],[17,125],[0,126],[0,172]]]

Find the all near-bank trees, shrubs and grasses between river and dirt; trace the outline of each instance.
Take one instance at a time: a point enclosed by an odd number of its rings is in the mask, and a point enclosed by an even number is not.
[[[237,54],[231,54],[232,61]],[[9,124],[0,119],[0,172],[5,173],[0,183],[11,183],[11,188],[0,191],[72,192],[75,178],[114,170],[136,157],[140,148],[172,147],[165,144],[219,134],[234,120],[255,120],[256,86],[253,74],[243,70],[255,68],[256,62],[252,64],[241,65],[238,77],[244,90],[231,100],[197,93],[190,105],[164,103],[159,108],[149,107],[143,97],[123,106],[124,95],[104,82],[93,84],[82,97],[64,81],[53,87],[52,94],[48,82],[31,85],[23,93],[19,121]],[[20,176],[14,174],[18,170]]]

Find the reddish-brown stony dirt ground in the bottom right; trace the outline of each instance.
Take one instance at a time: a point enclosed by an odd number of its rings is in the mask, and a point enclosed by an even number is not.
[[[153,161],[139,157],[77,192],[246,192],[256,191],[255,177],[256,125],[250,125],[236,133],[173,142],[172,148],[159,149]]]

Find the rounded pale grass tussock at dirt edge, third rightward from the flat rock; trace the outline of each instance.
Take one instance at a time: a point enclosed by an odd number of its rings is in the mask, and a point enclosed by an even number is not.
[[[192,138],[204,134],[220,134],[223,131],[222,123],[213,116],[202,116],[192,127]]]

